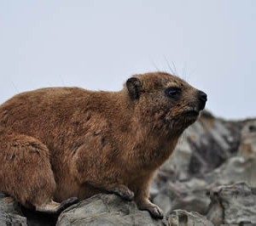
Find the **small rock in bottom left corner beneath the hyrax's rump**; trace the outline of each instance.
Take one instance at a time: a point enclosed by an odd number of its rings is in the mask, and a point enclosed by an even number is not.
[[[0,198],[0,225],[27,225],[20,207],[9,197]]]

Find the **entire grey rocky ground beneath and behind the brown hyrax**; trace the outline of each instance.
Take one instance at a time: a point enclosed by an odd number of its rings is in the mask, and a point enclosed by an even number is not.
[[[116,195],[96,195],[61,216],[20,209],[0,195],[0,225],[256,225],[256,120],[224,121],[207,111],[154,178],[155,220]]]

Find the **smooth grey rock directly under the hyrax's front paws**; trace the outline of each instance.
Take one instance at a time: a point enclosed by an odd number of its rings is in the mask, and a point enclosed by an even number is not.
[[[100,194],[62,212],[57,225],[162,225],[162,220],[139,211],[133,201]]]

